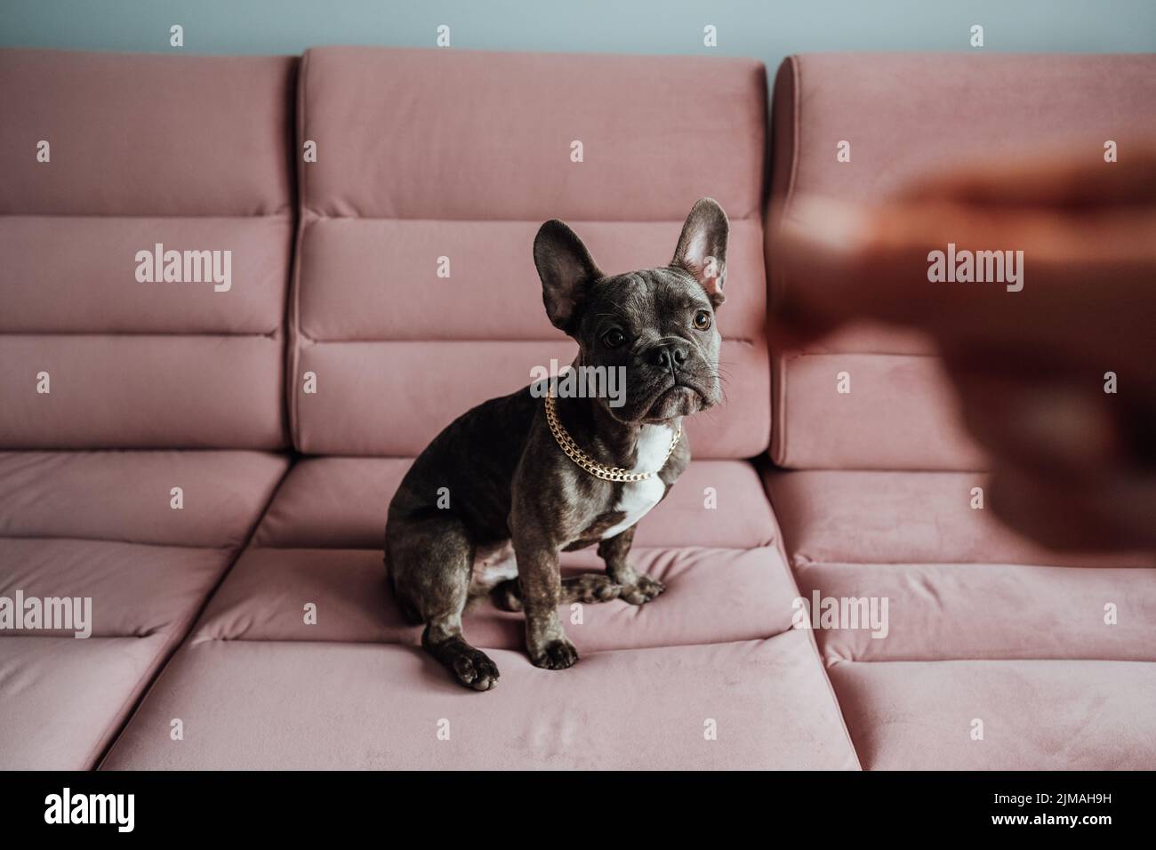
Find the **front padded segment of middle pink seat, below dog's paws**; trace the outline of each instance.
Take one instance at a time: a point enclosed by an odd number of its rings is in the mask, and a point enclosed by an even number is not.
[[[593,652],[556,672],[499,650],[501,683],[479,695],[410,646],[193,642],[103,767],[853,769],[813,652],[787,633]],[[172,717],[195,740],[170,740]]]

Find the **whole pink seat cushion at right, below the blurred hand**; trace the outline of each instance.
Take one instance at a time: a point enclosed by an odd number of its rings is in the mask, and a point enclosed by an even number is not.
[[[1151,555],[1042,549],[971,507],[978,473],[764,480],[810,611],[887,603],[814,631],[865,767],[1156,764]]]

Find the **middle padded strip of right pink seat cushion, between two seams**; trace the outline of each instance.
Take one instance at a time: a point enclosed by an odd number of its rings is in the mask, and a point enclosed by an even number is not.
[[[888,624],[880,637],[869,628],[816,633],[828,664],[1023,658],[1156,663],[1156,570],[812,563],[798,567],[795,576],[808,601],[816,591],[823,599],[888,600]],[[1109,621],[1110,613],[1116,622]]]

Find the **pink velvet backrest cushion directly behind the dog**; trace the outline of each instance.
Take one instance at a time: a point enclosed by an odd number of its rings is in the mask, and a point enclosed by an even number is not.
[[[690,423],[691,446],[764,451],[765,110],[756,61],[309,51],[295,445],[414,456],[473,405],[528,384],[532,367],[569,363],[575,343],[546,318],[534,269],[539,226],[568,221],[607,273],[660,266],[691,205],[711,195],[731,219],[719,313],[729,404]]]

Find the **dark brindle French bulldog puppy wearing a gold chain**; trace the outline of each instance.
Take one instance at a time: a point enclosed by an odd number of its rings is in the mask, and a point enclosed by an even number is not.
[[[623,369],[624,392],[566,397],[546,382],[490,399],[451,422],[402,480],[386,520],[386,569],[402,612],[425,626],[422,645],[461,685],[498,681],[494,661],[466,642],[461,616],[503,553],[512,549],[517,577],[488,590],[498,607],[525,613],[529,660],[547,670],[578,660],[561,604],[643,605],[665,590],[627,555],[636,523],[690,461],[683,417],[722,401],[714,311],[728,230],[722,208],[703,198],[670,265],[606,275],[565,223],[539,229],[547,316],[578,342],[571,369]],[[558,553],[594,544],[606,572],[562,578]]]

